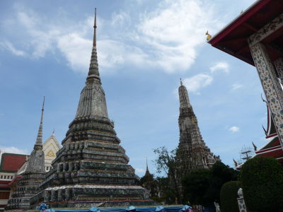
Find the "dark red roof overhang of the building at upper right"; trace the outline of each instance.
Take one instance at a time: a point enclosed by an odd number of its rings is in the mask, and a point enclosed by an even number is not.
[[[270,21],[279,16],[282,11],[282,0],[256,1],[253,6],[250,6],[250,8],[244,11],[238,18],[229,23],[229,25],[226,25],[223,30],[212,37],[209,43],[213,47],[254,66],[253,58],[248,47],[248,37],[267,23],[270,23]],[[267,45],[267,51],[272,60],[282,57],[282,52],[279,52],[274,46],[282,47],[283,28],[265,37],[262,43]]]

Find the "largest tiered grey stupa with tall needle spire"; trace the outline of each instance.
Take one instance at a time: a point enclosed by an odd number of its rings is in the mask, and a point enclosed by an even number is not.
[[[151,203],[108,118],[98,71],[96,16],[93,28],[91,64],[76,117],[40,185],[42,191],[31,199],[33,205],[40,201],[64,207]]]

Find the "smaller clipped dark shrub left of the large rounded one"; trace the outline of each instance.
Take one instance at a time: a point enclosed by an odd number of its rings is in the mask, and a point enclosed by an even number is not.
[[[222,185],[220,191],[221,212],[238,212],[238,189],[240,182],[230,181]]]

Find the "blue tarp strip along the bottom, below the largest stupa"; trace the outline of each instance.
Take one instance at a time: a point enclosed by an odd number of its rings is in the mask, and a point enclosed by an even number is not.
[[[150,208],[136,208],[136,212],[154,212],[156,207]],[[165,207],[166,212],[179,212],[182,207]],[[126,212],[125,208],[107,208],[100,209],[101,212]],[[52,208],[46,209],[45,212],[90,212],[90,209],[83,210],[54,210]]]

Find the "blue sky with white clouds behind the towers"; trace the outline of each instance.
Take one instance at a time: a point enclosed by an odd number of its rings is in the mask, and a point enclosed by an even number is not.
[[[91,58],[97,8],[98,64],[108,114],[137,175],[154,148],[178,146],[179,78],[207,146],[233,165],[243,146],[266,141],[255,67],[206,42],[254,1],[0,1],[0,148],[30,153],[46,96],[43,137],[64,139]]]

